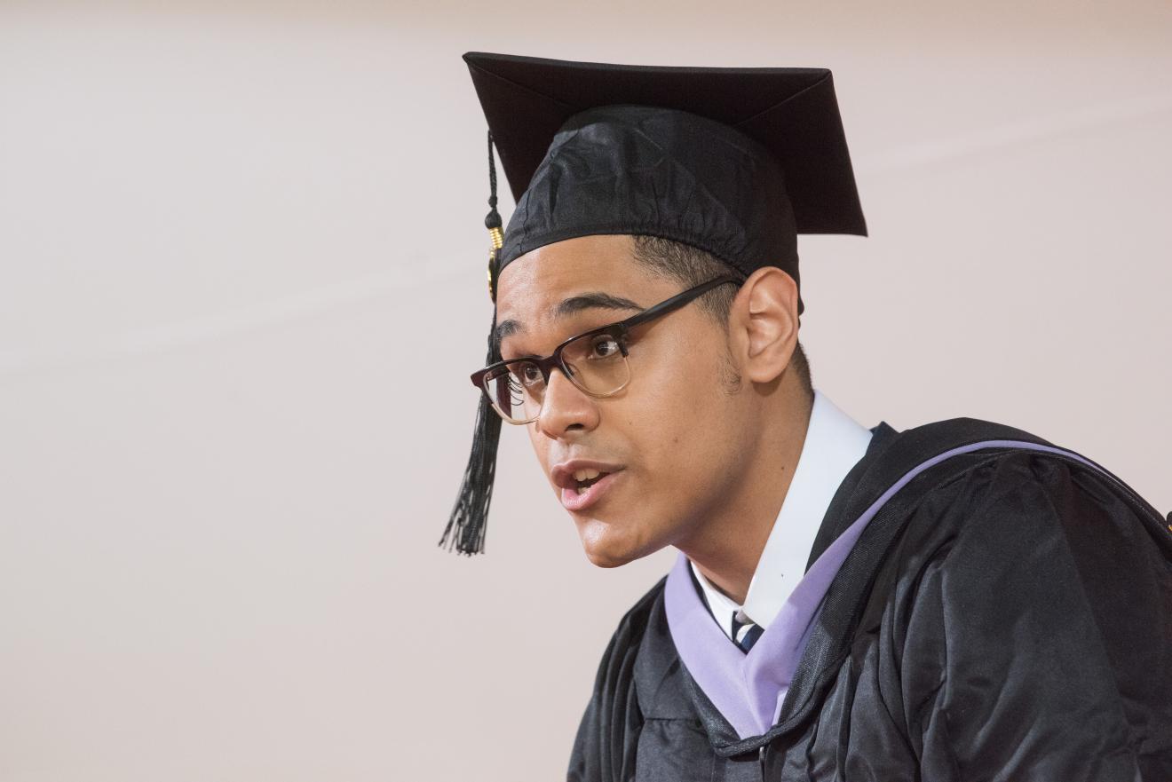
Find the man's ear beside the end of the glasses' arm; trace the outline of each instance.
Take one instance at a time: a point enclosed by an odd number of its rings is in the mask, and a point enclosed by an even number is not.
[[[776,266],[750,274],[732,300],[729,331],[749,380],[768,383],[779,378],[798,341],[798,286],[793,278]]]

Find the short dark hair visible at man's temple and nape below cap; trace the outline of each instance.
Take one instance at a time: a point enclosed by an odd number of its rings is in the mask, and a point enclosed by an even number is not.
[[[730,271],[740,279],[744,274],[734,270],[716,256],[694,247],[690,244],[665,239],[657,236],[635,234],[634,258],[640,266],[654,274],[667,277],[683,285],[686,288],[700,285],[707,280],[728,274]],[[697,302],[718,325],[728,327],[729,312],[732,310],[732,299],[736,298],[737,288],[731,285],[721,285],[704,293]],[[813,401],[813,381],[810,376],[810,361],[806,359],[802,340],[798,340],[790,356],[790,368],[797,373],[802,390],[806,399]],[[740,379],[736,380],[740,383]]]

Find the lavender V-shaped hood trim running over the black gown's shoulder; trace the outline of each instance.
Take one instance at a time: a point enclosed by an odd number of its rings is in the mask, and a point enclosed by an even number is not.
[[[680,552],[668,573],[663,596],[672,640],[688,673],[741,739],[759,736],[777,722],[793,672],[822,610],[823,598],[867,523],[897,491],[924,470],[950,456],[981,448],[1024,448],[1061,454],[1102,470],[1069,450],[1018,440],[986,440],[933,456],[892,484],[830,544],[798,582],[777,618],[748,654],[732,644],[713,620],[691,582],[688,558]]]

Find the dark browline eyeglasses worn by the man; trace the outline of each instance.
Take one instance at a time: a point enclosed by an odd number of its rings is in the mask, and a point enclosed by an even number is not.
[[[591,396],[613,396],[631,382],[627,341],[632,328],[679,310],[728,283],[741,285],[736,277],[710,279],[626,320],[571,336],[544,359],[526,355],[490,363],[472,373],[472,385],[484,392],[502,419],[518,424],[537,421],[554,369],[560,369],[570,382]]]

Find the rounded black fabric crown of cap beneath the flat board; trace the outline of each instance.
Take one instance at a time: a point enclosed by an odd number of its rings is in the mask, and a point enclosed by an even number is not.
[[[738,130],[688,111],[620,104],[571,116],[517,202],[497,273],[534,247],[591,233],[660,236],[745,277],[766,264],[798,277],[777,161]]]

